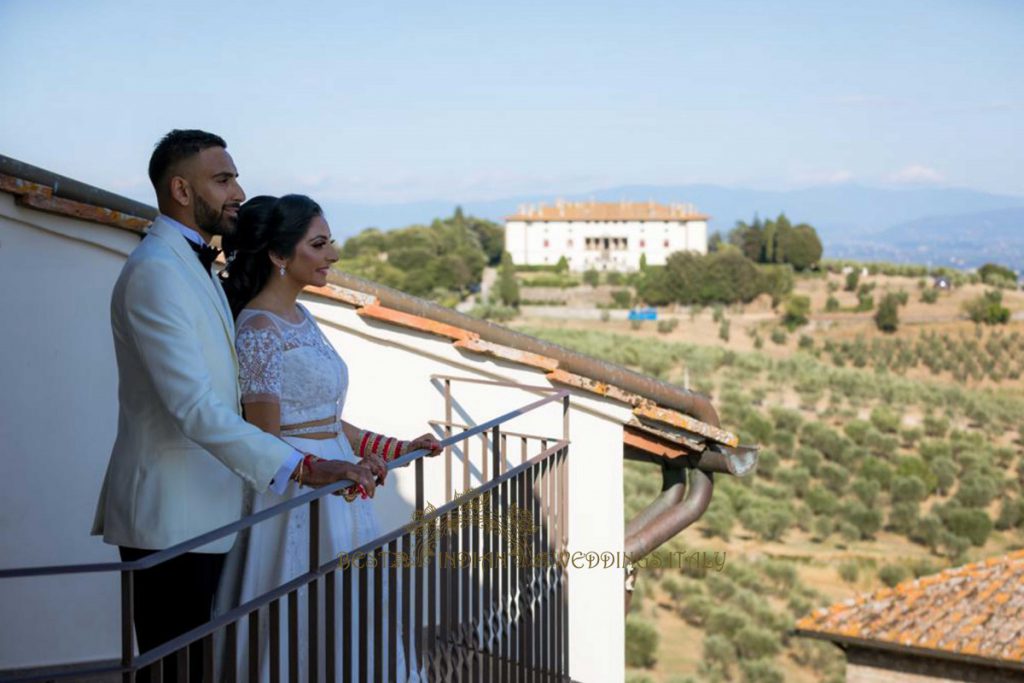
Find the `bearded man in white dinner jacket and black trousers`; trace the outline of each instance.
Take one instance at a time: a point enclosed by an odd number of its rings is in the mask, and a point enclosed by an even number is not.
[[[157,144],[150,179],[160,215],[114,287],[118,434],[92,532],[117,545],[123,561],[237,521],[246,485],[280,494],[304,468],[302,454],[240,415],[234,323],[210,269],[218,252],[209,242],[234,231],[245,200],[226,147],[200,130],[173,130]],[[337,481],[339,465],[318,462],[302,480]],[[356,482],[373,493],[369,471]],[[233,542],[136,573],[140,652],[209,621]],[[201,647],[189,648],[193,681],[202,665]],[[164,676],[176,680],[174,657]]]

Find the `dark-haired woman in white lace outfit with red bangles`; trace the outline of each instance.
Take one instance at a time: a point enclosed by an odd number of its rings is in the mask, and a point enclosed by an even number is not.
[[[437,440],[429,434],[401,441],[361,430],[341,419],[348,369],[309,311],[297,301],[306,286],[326,285],[328,270],[338,260],[331,228],[315,202],[300,195],[254,198],[243,205],[238,230],[224,240],[223,246],[228,256],[224,291],[236,316],[236,347],[246,420],[280,435],[298,451],[311,454],[298,466],[299,481],[303,473],[308,475],[315,470],[319,459],[328,459],[346,461],[352,468],[366,468],[382,484],[387,476],[386,461],[419,449],[432,454],[440,451]],[[292,481],[283,497],[269,492],[253,495],[251,512],[302,494],[299,481]],[[372,486],[368,488],[349,490],[344,498],[321,499],[322,562],[380,536],[370,500]],[[221,586],[226,600],[244,603],[308,570],[308,506],[295,508],[254,525],[248,538],[240,538],[227,560]],[[220,602],[223,604],[223,599]],[[304,605],[304,596],[299,603]],[[266,617],[260,616],[260,678],[266,681],[269,634]],[[300,614],[302,646],[297,648],[298,652],[293,650],[293,656],[299,657],[303,679],[308,671],[306,622],[304,613]],[[397,670],[381,672],[383,676],[374,672],[375,678],[418,679],[417,672],[408,671],[402,659],[402,648],[394,635],[398,633],[397,625],[389,627],[384,633],[388,634],[387,647],[398,649]],[[282,628],[283,634],[287,632],[287,628]],[[353,637],[360,635],[356,633]],[[243,621],[239,625],[238,642],[246,643],[247,638]],[[282,640],[285,639],[283,635]],[[354,643],[351,651],[357,651]],[[287,665],[286,642],[282,642],[281,652],[283,664]],[[341,661],[340,652],[338,661],[343,667],[354,665]],[[239,680],[246,680],[248,658],[240,656],[238,664]]]

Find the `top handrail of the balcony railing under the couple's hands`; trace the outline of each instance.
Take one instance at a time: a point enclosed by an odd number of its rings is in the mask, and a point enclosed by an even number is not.
[[[456,378],[456,377],[442,378],[440,376],[436,376],[436,378],[462,380],[462,381],[475,381],[475,380],[470,380],[468,378]],[[483,380],[482,383],[490,383],[498,385],[505,384],[501,382],[488,382],[486,380]],[[516,385],[509,385],[509,386],[516,386]],[[537,387],[537,388],[542,388],[542,387]],[[487,431],[488,429],[492,429],[493,427],[496,427],[497,425],[507,422],[513,418],[519,417],[520,415],[529,413],[530,411],[541,408],[542,405],[554,402],[555,400],[561,400],[568,395],[569,395],[568,390],[554,389],[553,393],[549,396],[545,396],[531,403],[527,403],[526,405],[523,405],[521,408],[509,411],[508,413],[505,413],[504,415],[500,415],[496,418],[487,420],[486,422],[482,422],[473,427],[472,429],[469,429],[458,435],[453,435],[450,438],[441,440],[440,444],[442,447],[453,445],[455,443],[458,443],[459,441],[466,440],[481,432]],[[409,453],[388,463],[388,469],[390,470],[397,467],[404,467],[406,465],[409,465],[414,461],[420,460],[421,458],[426,456],[427,453],[428,451],[425,449]],[[342,479],[339,481],[335,481],[334,483],[328,484],[326,486],[314,488],[313,490],[310,490],[307,494],[303,494],[302,496],[297,496],[291,500],[279,503],[278,505],[269,507],[266,510],[262,510],[261,512],[248,515],[229,524],[224,524],[223,526],[207,531],[206,533],[202,533],[187,541],[182,541],[176,546],[171,546],[170,548],[160,550],[156,553],[153,553],[152,555],[146,555],[145,557],[139,558],[137,560],[131,560],[127,562],[56,564],[56,565],[34,566],[34,567],[18,567],[13,569],[0,569],[0,580],[27,578],[27,577],[47,577],[56,574],[70,574],[70,573],[94,573],[103,571],[137,571],[140,569],[147,569],[162,562],[166,562],[167,560],[174,559],[179,555],[183,555],[184,553],[187,553],[190,550],[194,550],[201,546],[205,546],[209,543],[212,543],[213,541],[217,541],[218,539],[222,539],[231,533],[238,533],[239,531],[245,530],[250,526],[258,524],[259,522],[265,519],[279,515],[283,512],[287,512],[301,505],[305,505],[310,501],[318,500],[321,498],[324,498],[325,496],[333,494],[336,490],[347,488],[348,486],[351,486],[353,483],[354,482],[351,480]]]

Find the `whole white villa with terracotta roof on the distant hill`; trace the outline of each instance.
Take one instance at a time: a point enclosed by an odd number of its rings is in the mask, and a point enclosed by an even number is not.
[[[708,216],[690,204],[556,202],[523,206],[506,218],[505,250],[517,265],[571,270],[637,270],[640,257],[665,265],[677,251],[708,253]]]

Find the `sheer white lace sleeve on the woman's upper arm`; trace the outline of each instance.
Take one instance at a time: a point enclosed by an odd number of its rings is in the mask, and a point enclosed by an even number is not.
[[[239,353],[242,402],[281,402],[281,374],[285,340],[266,315],[253,315],[239,326],[234,338]]]

